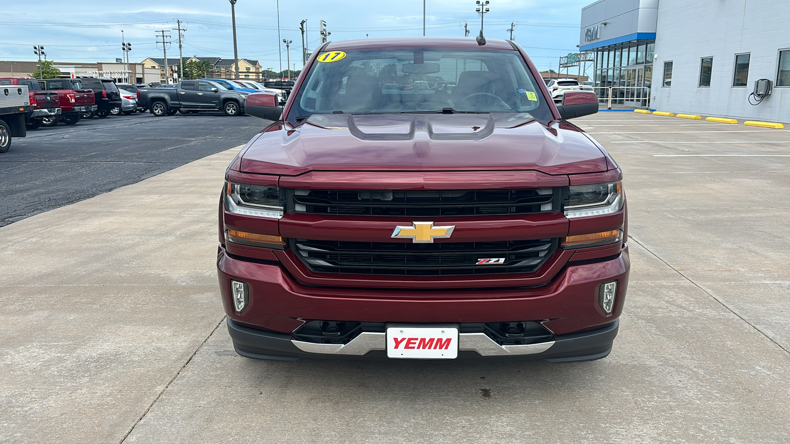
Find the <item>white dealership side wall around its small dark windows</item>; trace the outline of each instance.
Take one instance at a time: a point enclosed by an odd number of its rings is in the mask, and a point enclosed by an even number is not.
[[[776,87],[779,51],[790,49],[788,0],[660,0],[651,107],[660,111],[790,122],[790,87]],[[732,87],[735,55],[751,53],[746,87]],[[699,88],[701,58],[713,57],[709,88]],[[672,86],[662,88],[664,62]],[[773,93],[747,98],[767,78]]]

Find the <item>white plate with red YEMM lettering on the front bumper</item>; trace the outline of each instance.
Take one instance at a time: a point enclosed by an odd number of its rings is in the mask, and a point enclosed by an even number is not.
[[[455,359],[455,327],[387,327],[387,357],[402,359]]]

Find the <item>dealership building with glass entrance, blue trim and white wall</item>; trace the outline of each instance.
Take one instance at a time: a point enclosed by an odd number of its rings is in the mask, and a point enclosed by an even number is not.
[[[579,50],[615,104],[790,122],[788,24],[787,0],[600,0]]]

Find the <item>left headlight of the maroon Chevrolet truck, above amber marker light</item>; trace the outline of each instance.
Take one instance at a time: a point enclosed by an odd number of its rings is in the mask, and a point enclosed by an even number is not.
[[[230,213],[280,219],[284,207],[284,196],[276,186],[230,182],[225,186],[225,209]]]

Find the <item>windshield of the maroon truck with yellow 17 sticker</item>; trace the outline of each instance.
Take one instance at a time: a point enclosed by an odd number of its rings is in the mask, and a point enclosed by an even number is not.
[[[333,61],[338,52],[340,58]],[[551,119],[535,78],[517,51],[382,49],[318,55],[288,121],[338,112],[442,111],[528,111],[537,119]]]

